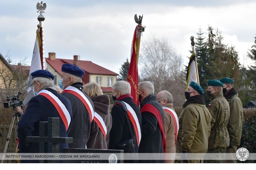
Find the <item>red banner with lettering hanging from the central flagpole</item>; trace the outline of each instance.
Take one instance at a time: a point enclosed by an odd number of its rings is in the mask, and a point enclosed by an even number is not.
[[[132,45],[131,45],[131,61],[130,61],[130,67],[128,71],[127,81],[131,85],[131,96],[133,97],[133,102],[136,103],[139,106],[139,90],[138,90],[138,60],[139,56],[136,57],[137,53],[137,28],[136,26],[133,39],[132,39]]]

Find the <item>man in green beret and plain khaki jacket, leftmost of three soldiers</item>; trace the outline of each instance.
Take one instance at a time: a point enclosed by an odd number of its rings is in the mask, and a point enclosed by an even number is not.
[[[179,117],[177,153],[181,153],[182,163],[203,163],[202,153],[208,150],[211,130],[211,114],[205,106],[203,89],[195,82],[185,91],[186,102]],[[187,157],[187,153],[199,153],[199,159]],[[200,157],[201,156],[201,157]]]

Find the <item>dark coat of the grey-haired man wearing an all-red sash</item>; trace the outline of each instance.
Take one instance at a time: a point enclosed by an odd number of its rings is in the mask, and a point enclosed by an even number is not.
[[[149,97],[142,101],[142,107],[145,104],[151,104],[156,107],[164,122],[164,112],[162,106],[158,103],[156,96]],[[139,153],[163,153],[162,135],[155,115],[150,112],[142,114],[142,136],[139,147]],[[148,155],[149,156],[149,155]],[[154,155],[155,160],[139,160],[139,163],[163,163],[163,154]],[[153,155],[151,156],[153,157]]]

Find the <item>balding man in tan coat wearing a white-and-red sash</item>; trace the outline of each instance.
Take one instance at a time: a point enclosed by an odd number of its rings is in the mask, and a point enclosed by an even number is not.
[[[163,111],[165,113],[165,121],[163,122],[166,145],[165,163],[174,163],[179,122],[177,114],[173,109],[173,97],[172,94],[167,90],[160,91],[156,97],[157,101],[163,107]]]

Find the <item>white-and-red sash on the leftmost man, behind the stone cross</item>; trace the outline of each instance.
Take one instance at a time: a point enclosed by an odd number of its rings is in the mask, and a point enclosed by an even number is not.
[[[39,91],[38,95],[42,95],[46,97],[50,102],[52,102],[52,104],[56,107],[60,118],[66,127],[66,130],[68,130],[71,117],[65,105],[59,100],[58,97],[56,97],[54,94],[52,94],[52,92],[48,90],[41,90]]]

